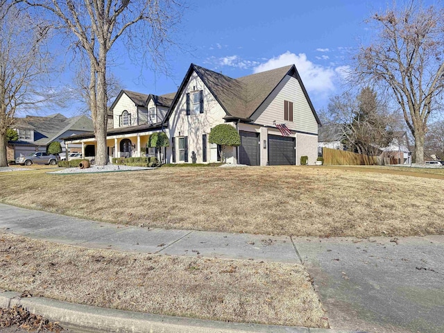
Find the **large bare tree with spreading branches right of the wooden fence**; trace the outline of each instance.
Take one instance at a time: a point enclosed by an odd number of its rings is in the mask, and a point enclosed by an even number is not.
[[[360,82],[379,84],[391,92],[415,139],[416,162],[424,162],[427,121],[438,110],[444,88],[444,10],[422,8],[411,1],[370,17],[375,42],[356,56]]]

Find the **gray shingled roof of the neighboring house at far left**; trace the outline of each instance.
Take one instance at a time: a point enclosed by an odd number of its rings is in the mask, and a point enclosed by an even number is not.
[[[49,144],[67,130],[85,132],[94,130],[92,120],[86,116],[67,118],[62,114],[51,114],[47,117],[26,116],[22,121],[34,128],[33,144],[37,145]]]

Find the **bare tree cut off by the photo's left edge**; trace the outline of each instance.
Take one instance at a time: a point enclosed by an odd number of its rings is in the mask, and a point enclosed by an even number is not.
[[[0,6],[0,167],[8,165],[8,128],[19,110],[49,101],[52,92],[44,84],[51,57],[44,48],[50,26]]]

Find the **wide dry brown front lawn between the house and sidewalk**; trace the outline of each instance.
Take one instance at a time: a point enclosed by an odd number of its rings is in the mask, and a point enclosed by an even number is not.
[[[444,233],[444,174],[371,167],[0,173],[0,201],[148,227],[294,236]],[[429,169],[432,170],[432,169]],[[429,171],[432,172],[432,171]],[[406,176],[406,173],[411,176]]]

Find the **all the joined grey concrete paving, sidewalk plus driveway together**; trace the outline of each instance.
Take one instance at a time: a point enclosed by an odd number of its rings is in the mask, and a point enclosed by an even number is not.
[[[0,230],[89,248],[304,264],[336,330],[444,332],[444,236],[316,237],[137,228],[0,204]]]

